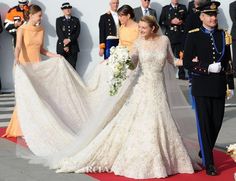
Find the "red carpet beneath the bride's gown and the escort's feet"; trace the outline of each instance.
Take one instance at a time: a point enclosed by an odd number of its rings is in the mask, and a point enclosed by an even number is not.
[[[6,128],[0,128],[0,137],[5,133]],[[16,143],[16,138],[3,138]],[[27,146],[25,142],[19,143]],[[236,163],[223,152],[215,151],[215,164],[218,169],[219,175],[215,177],[207,176],[205,171],[197,172],[194,174],[178,174],[170,176],[165,179],[145,179],[145,181],[234,181],[233,175],[236,173]],[[126,177],[116,176],[112,173],[93,173],[89,176],[100,181],[134,181]],[[144,180],[144,179],[140,179]]]

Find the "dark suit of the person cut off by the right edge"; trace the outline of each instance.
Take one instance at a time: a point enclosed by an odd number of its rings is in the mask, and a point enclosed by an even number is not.
[[[233,45],[233,64],[234,64],[234,70],[236,70],[236,1],[232,2],[229,5],[229,14],[233,23],[232,29],[231,29],[231,35],[233,38],[233,44],[232,44]]]

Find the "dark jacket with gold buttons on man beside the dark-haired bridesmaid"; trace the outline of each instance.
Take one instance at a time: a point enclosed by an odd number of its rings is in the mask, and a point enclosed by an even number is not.
[[[115,21],[112,17],[112,14],[105,13],[100,16],[99,20],[99,47],[100,49],[109,49],[110,47],[106,47],[106,39],[108,36],[117,36],[117,27]],[[106,51],[104,51],[105,53]],[[107,56],[104,54],[104,58],[106,59]]]

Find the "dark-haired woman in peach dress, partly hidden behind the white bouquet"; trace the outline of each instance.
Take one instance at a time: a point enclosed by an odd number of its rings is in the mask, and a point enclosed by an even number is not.
[[[119,44],[131,50],[134,41],[138,38],[138,24],[133,20],[133,8],[129,5],[123,5],[118,9],[117,13],[121,23],[119,29]]]

